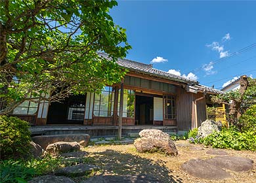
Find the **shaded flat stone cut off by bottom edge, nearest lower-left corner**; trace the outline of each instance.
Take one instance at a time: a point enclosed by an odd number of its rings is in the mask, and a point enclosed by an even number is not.
[[[32,178],[28,183],[75,183],[66,176],[44,175]]]

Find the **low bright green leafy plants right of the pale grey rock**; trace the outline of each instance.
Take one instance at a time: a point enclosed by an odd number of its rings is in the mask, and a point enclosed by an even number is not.
[[[256,150],[256,132],[240,132],[235,127],[213,132],[202,140],[206,146],[213,148],[230,148],[234,150]]]

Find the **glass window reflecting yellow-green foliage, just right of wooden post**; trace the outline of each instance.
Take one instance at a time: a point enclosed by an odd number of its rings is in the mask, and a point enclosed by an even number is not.
[[[117,115],[119,116],[120,93],[118,93]],[[134,118],[135,92],[133,90],[123,90],[123,117]]]

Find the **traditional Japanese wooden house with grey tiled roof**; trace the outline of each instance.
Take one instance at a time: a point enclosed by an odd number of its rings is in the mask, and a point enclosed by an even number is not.
[[[107,58],[106,54],[100,56]],[[206,119],[207,97],[221,93],[151,64],[129,59],[118,59],[117,64],[129,72],[121,83],[104,87],[101,94],[73,95],[62,103],[26,101],[12,115],[34,125],[115,126],[121,117],[122,125],[172,126],[188,131]]]

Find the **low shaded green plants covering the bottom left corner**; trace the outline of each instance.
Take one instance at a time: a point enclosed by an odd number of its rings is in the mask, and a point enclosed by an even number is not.
[[[33,176],[46,175],[53,173],[56,169],[61,167],[68,167],[77,165],[79,163],[93,163],[91,158],[80,158],[80,159],[63,159],[63,158],[52,158],[47,156],[43,159],[30,159],[30,160],[17,160],[12,159],[1,161],[0,169],[1,175],[0,180],[3,183],[11,182],[26,182],[33,178]]]

